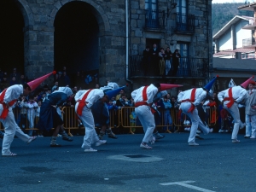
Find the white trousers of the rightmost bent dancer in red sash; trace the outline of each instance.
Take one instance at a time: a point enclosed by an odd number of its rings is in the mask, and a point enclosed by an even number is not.
[[[230,113],[230,115],[233,117],[234,122],[235,122],[231,139],[237,139],[239,127],[242,126],[242,123],[240,120],[238,104],[237,104],[237,102],[234,102],[234,104],[230,108],[227,108],[227,103],[229,103],[229,101],[224,102],[223,108],[226,109]]]

